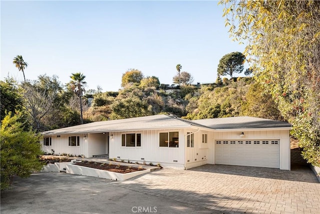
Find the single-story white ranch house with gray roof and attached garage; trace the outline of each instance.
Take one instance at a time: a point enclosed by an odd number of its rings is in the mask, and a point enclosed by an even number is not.
[[[153,115],[42,132],[44,152],[109,154],[132,162],[189,169],[203,164],[290,170],[291,124],[255,117],[183,120]]]

